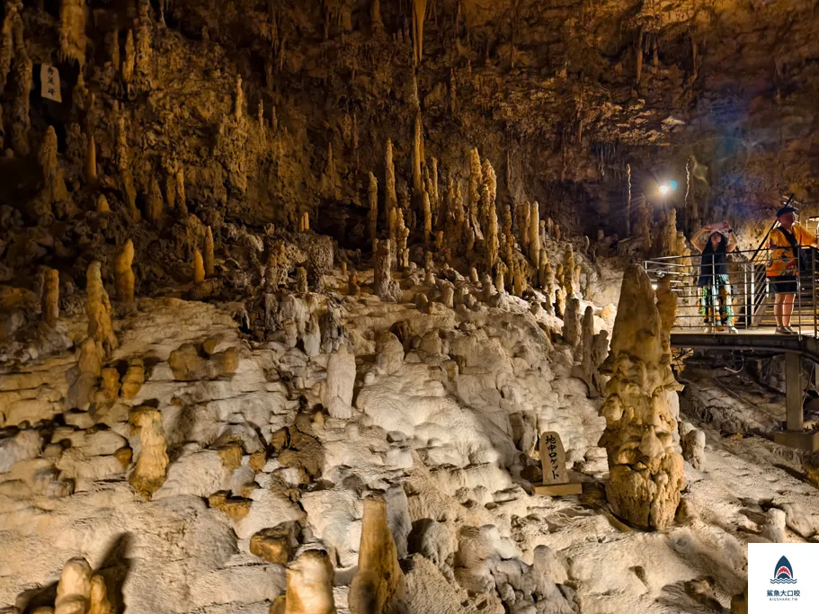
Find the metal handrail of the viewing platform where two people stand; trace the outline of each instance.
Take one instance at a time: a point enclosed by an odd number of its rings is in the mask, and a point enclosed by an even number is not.
[[[776,227],[774,225],[770,231]],[[769,231],[769,235],[770,235]],[[767,241],[768,235],[766,235]],[[776,248],[777,250],[782,249]],[[678,310],[677,319],[674,322],[674,329],[695,329],[706,326],[704,317],[700,312],[700,307],[709,310],[706,315],[710,315],[710,325],[726,325],[721,312],[726,312],[728,307],[734,312],[730,325],[737,329],[772,328],[775,325],[763,323],[766,311],[770,307],[768,300],[770,294],[770,278],[767,277],[766,263],[772,250],[761,245],[756,250],[735,250],[731,254],[731,260],[726,258],[727,283],[715,283],[717,279],[717,263],[711,264],[711,274],[702,270],[702,254],[691,254],[690,256],[663,256],[645,260],[643,268],[652,280],[657,281],[663,277],[670,277],[670,286],[677,294]],[[817,305],[819,305],[819,278],[817,278],[816,258],[817,252],[811,247],[802,247],[801,251],[809,254],[809,267],[802,269],[801,258],[797,257],[797,292],[790,324],[797,328],[800,335],[817,335],[819,331],[819,316],[817,316]],[[748,260],[744,257],[751,256]],[[706,275],[706,280],[710,278],[710,283],[705,286],[709,288],[709,294],[703,293],[703,286],[699,285],[700,278]],[[720,287],[726,285],[728,296],[721,297]],[[725,295],[725,293],[724,293]],[[723,302],[726,303],[723,306]],[[725,307],[725,308],[723,308]],[[726,326],[727,329],[727,326]]]

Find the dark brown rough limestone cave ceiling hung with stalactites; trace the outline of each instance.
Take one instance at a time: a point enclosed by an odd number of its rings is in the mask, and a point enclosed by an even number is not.
[[[75,202],[93,202],[72,181],[81,134],[95,138],[102,189],[115,187],[105,177],[118,164],[120,117],[140,200],[152,176],[162,183],[182,168],[188,200],[213,215],[292,223],[323,208],[316,229],[344,228],[352,244],[387,138],[399,191],[410,181],[419,112],[442,179],[462,180],[478,147],[497,169],[502,206],[537,199],[565,229],[589,235],[625,234],[627,164],[634,190],[646,192],[665,177],[684,188],[688,162],[701,216],[737,223],[754,209],[766,216],[786,191],[806,199],[815,188],[814,2],[138,4],[4,7],[6,134],[21,112],[19,21],[34,66],[28,148],[54,126],[59,153],[75,161],[66,171]],[[63,102],[41,98],[40,64],[58,67]],[[266,128],[231,129],[236,104]],[[33,180],[19,177],[36,167],[26,168],[4,161],[4,183],[16,186],[4,189],[7,203],[31,196]]]

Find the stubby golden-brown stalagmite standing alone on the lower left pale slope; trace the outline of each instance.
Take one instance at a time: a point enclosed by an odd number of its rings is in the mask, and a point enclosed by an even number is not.
[[[139,436],[139,454],[128,481],[138,494],[150,499],[165,484],[165,471],[168,467],[162,414],[154,407],[141,405],[130,411],[129,422],[133,432]]]

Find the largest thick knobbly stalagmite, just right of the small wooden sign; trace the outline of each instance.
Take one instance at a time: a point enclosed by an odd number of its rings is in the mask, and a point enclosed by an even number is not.
[[[606,494],[612,511],[639,527],[665,529],[684,486],[671,405],[680,387],[663,362],[663,327],[651,280],[637,264],[623,277],[611,350],[601,370],[611,374],[599,445],[609,455]]]

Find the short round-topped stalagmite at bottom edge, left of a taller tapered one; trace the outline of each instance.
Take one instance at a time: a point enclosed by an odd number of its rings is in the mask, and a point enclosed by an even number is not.
[[[287,592],[271,614],[335,614],[333,564],[324,550],[307,550],[287,566]]]

